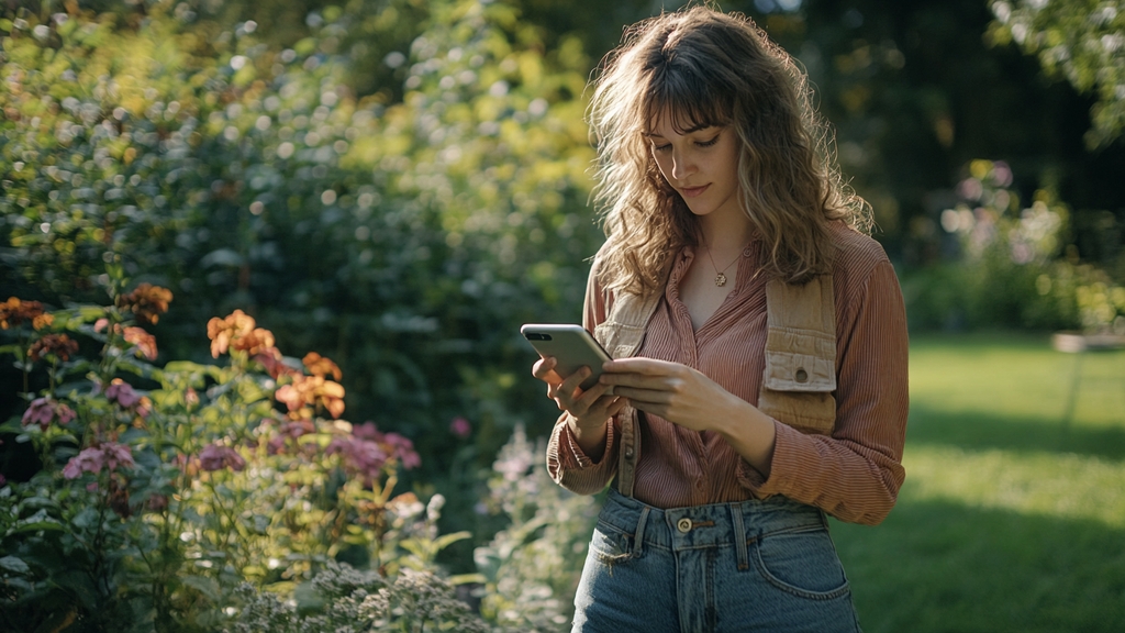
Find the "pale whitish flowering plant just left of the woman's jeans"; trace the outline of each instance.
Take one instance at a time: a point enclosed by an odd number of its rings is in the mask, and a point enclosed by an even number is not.
[[[559,631],[574,616],[574,595],[601,507],[551,481],[546,443],[522,427],[493,465],[485,508],[510,519],[474,558],[486,583],[480,612],[516,631]]]

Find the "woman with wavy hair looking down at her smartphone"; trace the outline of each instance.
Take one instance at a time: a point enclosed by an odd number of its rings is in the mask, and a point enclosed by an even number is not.
[[[825,515],[878,524],[903,480],[907,333],[868,207],[804,74],[749,19],[630,29],[590,109],[608,240],[584,326],[598,384],[533,375],[562,487],[612,480],[574,631],[857,631]]]

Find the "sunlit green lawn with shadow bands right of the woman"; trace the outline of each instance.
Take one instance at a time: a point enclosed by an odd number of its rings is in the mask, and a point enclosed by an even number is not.
[[[1047,337],[911,340],[907,482],[879,527],[835,523],[881,632],[1125,631],[1125,351]]]

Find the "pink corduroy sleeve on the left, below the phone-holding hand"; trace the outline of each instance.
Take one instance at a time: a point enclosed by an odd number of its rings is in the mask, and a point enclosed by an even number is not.
[[[586,282],[586,300],[582,319],[583,327],[591,332],[605,321],[612,305],[610,293],[602,289],[597,282],[597,269],[598,264],[597,258],[595,258],[590,278]],[[583,452],[570,433],[567,414],[559,416],[547,444],[547,472],[550,473],[551,479],[562,488],[578,494],[601,492],[618,471],[618,446],[614,442],[616,426],[618,420],[608,426],[605,452],[602,454],[602,458],[595,463]]]

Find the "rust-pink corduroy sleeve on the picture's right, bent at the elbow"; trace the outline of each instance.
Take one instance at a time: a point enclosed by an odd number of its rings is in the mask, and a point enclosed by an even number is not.
[[[775,420],[770,476],[742,460],[738,480],[759,498],[784,494],[840,520],[875,525],[890,514],[904,479],[909,403],[906,310],[889,261],[875,265],[842,321],[831,436]]]

